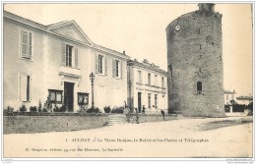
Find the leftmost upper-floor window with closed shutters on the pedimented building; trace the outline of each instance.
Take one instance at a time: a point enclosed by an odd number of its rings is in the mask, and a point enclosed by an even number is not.
[[[32,32],[21,30],[21,57],[32,59]]]

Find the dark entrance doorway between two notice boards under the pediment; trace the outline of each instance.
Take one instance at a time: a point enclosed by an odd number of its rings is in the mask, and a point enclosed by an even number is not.
[[[74,111],[74,83],[64,82],[64,104],[68,112]]]

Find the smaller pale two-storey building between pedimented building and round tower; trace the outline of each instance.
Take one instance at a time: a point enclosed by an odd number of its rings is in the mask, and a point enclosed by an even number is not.
[[[143,105],[149,109],[167,109],[167,73],[147,60],[129,60],[128,106],[141,113]]]

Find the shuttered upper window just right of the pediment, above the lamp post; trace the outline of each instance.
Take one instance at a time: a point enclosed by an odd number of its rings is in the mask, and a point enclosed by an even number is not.
[[[103,55],[96,54],[96,74],[107,75],[107,59]]]

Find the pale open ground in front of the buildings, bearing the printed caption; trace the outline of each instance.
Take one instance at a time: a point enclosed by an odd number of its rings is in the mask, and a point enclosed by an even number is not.
[[[251,158],[252,117],[178,118],[98,129],[4,135],[5,158]]]

